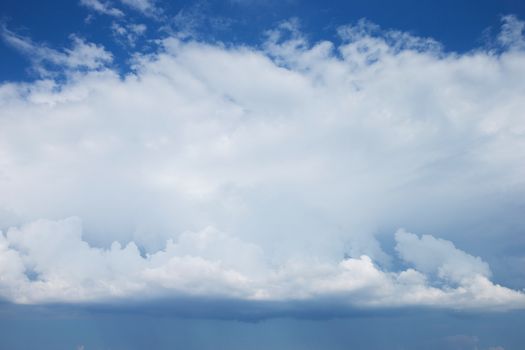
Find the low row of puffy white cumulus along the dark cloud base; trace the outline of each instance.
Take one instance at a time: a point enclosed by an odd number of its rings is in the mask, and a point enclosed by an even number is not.
[[[406,244],[418,237],[398,232],[396,239]],[[450,242],[438,242],[450,249]],[[419,247],[419,253],[446,260],[450,251],[429,245]],[[204,296],[253,302],[332,298],[346,307],[525,306],[525,294],[476,272],[437,288],[420,271],[385,271],[366,255],[333,263],[303,257],[275,264],[261,247],[213,227],[185,232],[162,250],[143,255],[133,242],[113,242],[108,249],[90,246],[78,218],[39,220],[0,235],[0,257],[1,295],[18,303]]]

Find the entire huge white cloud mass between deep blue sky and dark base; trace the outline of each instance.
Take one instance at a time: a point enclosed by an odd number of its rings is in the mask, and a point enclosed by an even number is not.
[[[0,86],[0,296],[524,308],[452,243],[525,229],[493,224],[525,204],[523,22],[465,54],[366,21],[339,35],[167,37],[125,76],[94,44],[81,72],[77,49],[37,50],[67,78]]]

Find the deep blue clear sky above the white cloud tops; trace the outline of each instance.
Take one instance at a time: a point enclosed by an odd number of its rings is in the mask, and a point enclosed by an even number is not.
[[[260,44],[262,32],[279,21],[300,18],[301,25],[312,40],[337,40],[338,26],[367,18],[384,28],[408,31],[418,36],[432,37],[443,43],[447,51],[465,52],[484,45],[487,34],[497,31],[502,15],[523,17],[525,5],[519,0],[504,1],[177,1],[159,2],[165,18],[144,17],[140,11],[126,11],[126,20],[145,23],[147,37],[162,36],[162,27],[173,25],[177,14],[194,14],[200,17],[199,34],[205,39],[224,42]],[[93,18],[86,23],[86,18]],[[212,19],[228,24],[211,25]],[[76,33],[90,41],[103,44],[115,55],[119,68],[126,71],[128,48],[115,43],[111,37],[111,16],[93,14],[74,1],[5,0],[2,3],[2,20],[11,29],[28,34],[34,40],[51,46],[66,46],[68,36]],[[57,25],[60,21],[60,25]],[[159,30],[161,31],[159,33]],[[147,48],[135,48],[143,50]],[[26,80],[27,62],[10,47],[0,46],[4,64],[0,69],[2,80]]]

